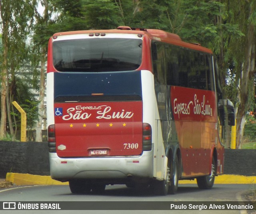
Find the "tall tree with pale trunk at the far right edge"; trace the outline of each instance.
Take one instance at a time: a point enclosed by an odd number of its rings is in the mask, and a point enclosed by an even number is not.
[[[241,38],[231,37],[230,51],[227,53],[227,58],[234,64],[233,70],[236,73],[236,148],[241,148],[246,112],[254,103],[256,1],[224,2],[228,7],[227,21],[230,24],[237,24],[245,35]]]

